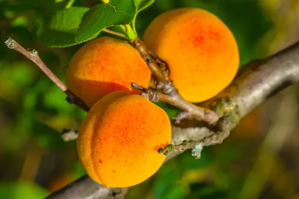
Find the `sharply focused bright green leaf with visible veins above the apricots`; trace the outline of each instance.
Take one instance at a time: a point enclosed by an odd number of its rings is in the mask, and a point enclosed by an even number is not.
[[[85,42],[107,27],[129,24],[136,11],[134,0],[110,0],[109,3],[95,5],[84,14],[75,40]]]

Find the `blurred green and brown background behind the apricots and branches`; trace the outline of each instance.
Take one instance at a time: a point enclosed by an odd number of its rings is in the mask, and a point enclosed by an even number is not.
[[[48,48],[40,39],[55,1],[62,0],[0,0],[0,199],[41,199],[85,174],[76,142],[64,142],[60,132],[78,129],[86,113],[3,43],[10,36],[35,48],[64,82],[81,45]],[[156,15],[187,6],[207,9],[229,26],[240,67],[299,40],[299,0],[155,0],[137,18],[140,37]],[[201,159],[190,151],[177,156],[126,199],[299,199],[298,94],[298,85],[279,93],[244,117],[222,144],[205,147]],[[170,118],[178,111],[159,105]]]

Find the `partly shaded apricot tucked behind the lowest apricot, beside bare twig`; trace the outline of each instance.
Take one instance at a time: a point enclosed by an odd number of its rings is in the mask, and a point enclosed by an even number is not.
[[[111,92],[140,94],[131,83],[148,87],[150,71],[139,52],[120,39],[100,37],[83,45],[73,56],[66,86],[89,107]]]

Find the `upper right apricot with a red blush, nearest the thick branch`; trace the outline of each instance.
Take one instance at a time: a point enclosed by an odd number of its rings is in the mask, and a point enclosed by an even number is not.
[[[216,96],[239,67],[237,42],[214,14],[199,8],[179,8],[157,16],[144,42],[164,60],[181,96],[201,102]]]

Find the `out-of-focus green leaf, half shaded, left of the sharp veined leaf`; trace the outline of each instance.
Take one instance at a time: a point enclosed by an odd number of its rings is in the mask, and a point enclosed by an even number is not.
[[[41,40],[50,47],[68,47],[80,44],[75,41],[75,33],[88,7],[70,7],[58,10],[50,21],[50,28],[41,35]],[[96,35],[97,36],[97,35]]]

